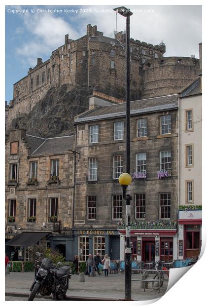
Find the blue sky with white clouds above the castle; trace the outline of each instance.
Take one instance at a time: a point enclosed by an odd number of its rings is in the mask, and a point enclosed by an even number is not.
[[[87,24],[97,25],[107,36],[116,29],[114,6],[109,5],[6,5],[5,6],[5,100],[13,98],[13,84],[27,75],[51,52],[64,44],[65,34],[86,35]],[[201,5],[130,5],[130,35],[147,43],[166,44],[164,56],[199,58],[202,41]],[[47,11],[45,11],[47,10]],[[58,11],[59,10],[59,11]],[[117,31],[125,18],[117,15]]]

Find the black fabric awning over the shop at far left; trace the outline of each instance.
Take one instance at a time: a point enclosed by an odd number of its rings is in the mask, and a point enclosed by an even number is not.
[[[6,242],[5,245],[32,246],[48,234],[49,232],[22,232]]]

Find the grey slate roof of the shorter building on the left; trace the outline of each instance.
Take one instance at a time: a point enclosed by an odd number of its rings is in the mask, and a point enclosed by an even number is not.
[[[73,136],[62,136],[45,139],[26,135],[26,141],[31,148],[31,157],[69,153],[73,148],[73,138]]]

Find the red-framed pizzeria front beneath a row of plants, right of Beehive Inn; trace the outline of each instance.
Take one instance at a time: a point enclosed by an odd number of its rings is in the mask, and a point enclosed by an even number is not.
[[[177,256],[176,229],[131,229],[132,260],[171,261]],[[120,259],[125,255],[125,229],[120,229]]]

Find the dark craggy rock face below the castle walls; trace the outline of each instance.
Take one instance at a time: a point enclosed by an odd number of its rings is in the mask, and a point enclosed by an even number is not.
[[[11,128],[24,128],[27,134],[39,137],[71,135],[74,132],[73,117],[88,109],[92,89],[62,85],[48,90],[30,113],[14,119]]]

